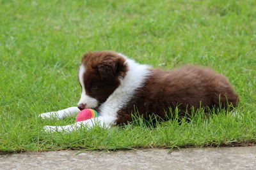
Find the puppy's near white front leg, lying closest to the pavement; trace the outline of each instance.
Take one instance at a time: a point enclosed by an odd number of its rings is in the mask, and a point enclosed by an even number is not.
[[[90,118],[88,120],[84,120],[81,122],[76,122],[76,124],[71,125],[64,125],[64,126],[45,126],[44,130],[47,132],[72,132],[76,131],[80,127],[86,127],[87,129],[90,129],[94,125],[99,124],[100,127],[106,127],[108,128],[110,125],[115,123],[116,118],[111,116],[104,116],[104,117],[97,117],[97,118]]]

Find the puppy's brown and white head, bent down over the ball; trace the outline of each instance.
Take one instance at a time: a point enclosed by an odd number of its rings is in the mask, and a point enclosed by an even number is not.
[[[125,58],[116,52],[86,53],[77,74],[82,87],[79,110],[97,108],[104,103],[120,85],[127,69]]]

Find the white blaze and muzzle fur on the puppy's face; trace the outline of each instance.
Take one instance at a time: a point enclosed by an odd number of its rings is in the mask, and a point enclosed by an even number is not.
[[[96,108],[98,106],[97,99],[86,95],[86,90],[84,88],[84,80],[83,80],[83,74],[84,73],[85,73],[85,67],[82,64],[79,68],[79,73],[78,73],[78,79],[79,79],[79,82],[82,86],[82,94],[81,94],[81,98],[78,102],[78,105],[79,104],[86,104],[87,108]]]

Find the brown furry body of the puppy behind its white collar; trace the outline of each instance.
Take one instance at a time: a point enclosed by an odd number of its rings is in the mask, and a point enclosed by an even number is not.
[[[180,115],[200,107],[227,108],[237,106],[237,94],[221,74],[211,69],[185,66],[170,71],[152,69],[143,87],[137,90],[130,103],[118,111],[118,124],[131,120],[134,106],[145,117],[152,113],[166,117],[170,108],[179,108]]]

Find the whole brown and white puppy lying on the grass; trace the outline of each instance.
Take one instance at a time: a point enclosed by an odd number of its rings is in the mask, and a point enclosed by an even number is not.
[[[110,51],[86,53],[77,77],[82,87],[79,109],[71,107],[40,117],[65,118],[84,108],[99,111],[99,117],[60,127],[45,126],[46,131],[73,131],[96,122],[102,127],[125,124],[132,120],[134,106],[145,118],[152,114],[165,118],[166,111],[177,106],[182,115],[191,107],[227,108],[239,101],[227,78],[211,69],[185,66],[161,71]]]

